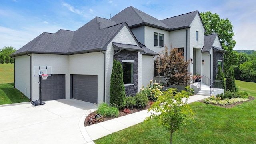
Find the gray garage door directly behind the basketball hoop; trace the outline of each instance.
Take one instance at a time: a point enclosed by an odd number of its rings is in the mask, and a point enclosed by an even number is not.
[[[65,98],[65,75],[48,76],[42,81],[42,100],[56,100]]]

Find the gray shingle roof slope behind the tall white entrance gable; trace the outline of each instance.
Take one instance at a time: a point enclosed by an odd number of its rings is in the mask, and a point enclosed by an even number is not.
[[[190,25],[191,25],[192,21],[194,20],[196,14],[198,14],[200,16],[198,10],[196,10],[194,12],[189,12],[189,13],[182,14],[179,16],[166,18],[164,20],[161,20],[161,22],[163,22],[164,24],[169,26],[171,28],[171,30],[177,30],[177,29],[185,28],[185,27],[190,28]],[[202,20],[201,20],[201,22],[202,22]]]

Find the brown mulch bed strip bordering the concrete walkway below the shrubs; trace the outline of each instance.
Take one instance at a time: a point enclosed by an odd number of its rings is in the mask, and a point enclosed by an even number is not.
[[[150,102],[148,102],[148,104],[147,104],[147,106],[145,108],[129,108],[129,110],[130,110],[129,114],[132,114],[132,113],[135,113],[135,112],[139,112],[139,111],[142,111],[142,110],[147,110],[149,108],[150,108]],[[92,125],[92,124],[86,123],[86,120],[90,119],[91,117],[96,116],[96,114],[97,114],[96,111],[88,114],[88,116],[86,116],[86,119],[84,121],[84,126]],[[128,114],[124,113],[124,110],[119,110],[119,116],[118,117],[126,116],[126,115],[128,115]],[[111,119],[118,118],[118,117],[104,117],[104,118],[101,119],[101,121],[99,121],[99,122],[97,121],[94,124],[98,124],[100,122],[104,122],[104,121],[111,120]]]

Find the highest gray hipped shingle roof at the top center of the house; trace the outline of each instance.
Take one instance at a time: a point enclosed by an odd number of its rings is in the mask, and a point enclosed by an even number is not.
[[[126,22],[128,26],[136,27],[141,25],[154,26],[156,28],[170,30],[170,27],[160,20],[150,16],[132,6],[125,8],[111,18],[116,23]]]

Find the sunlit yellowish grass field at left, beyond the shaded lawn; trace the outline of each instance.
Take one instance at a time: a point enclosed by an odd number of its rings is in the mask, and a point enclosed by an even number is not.
[[[14,82],[14,64],[0,64],[0,84]]]

